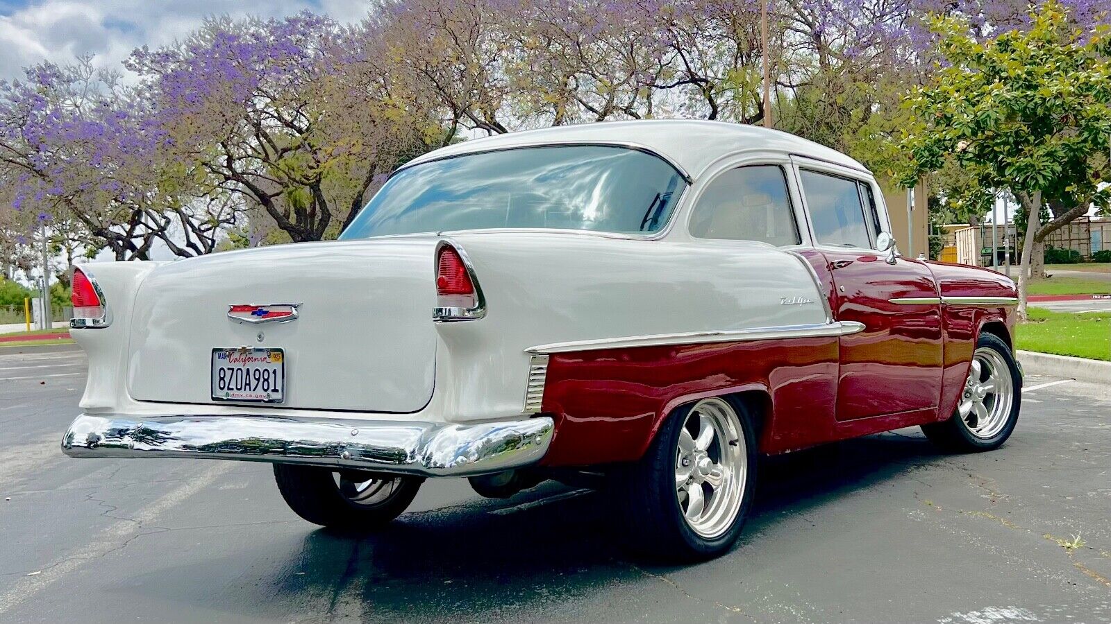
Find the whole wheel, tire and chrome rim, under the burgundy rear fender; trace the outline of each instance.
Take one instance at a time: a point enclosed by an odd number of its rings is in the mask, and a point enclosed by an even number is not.
[[[737,541],[755,489],[757,441],[744,405],[703,399],[663,422],[641,461],[617,480],[635,550],[692,561]]]

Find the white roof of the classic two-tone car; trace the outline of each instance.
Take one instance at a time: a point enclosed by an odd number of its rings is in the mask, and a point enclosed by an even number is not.
[[[788,132],[688,119],[603,121],[494,134],[440,148],[411,160],[404,167],[472,152],[557,143],[628,143],[647,148],[691,178],[698,178],[707,167],[725,154],[751,149],[803,155],[867,171],[863,164],[837,150]]]

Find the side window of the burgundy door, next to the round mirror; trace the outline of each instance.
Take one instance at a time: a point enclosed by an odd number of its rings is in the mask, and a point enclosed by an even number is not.
[[[868,219],[857,182],[802,170],[802,192],[819,244],[871,249]]]

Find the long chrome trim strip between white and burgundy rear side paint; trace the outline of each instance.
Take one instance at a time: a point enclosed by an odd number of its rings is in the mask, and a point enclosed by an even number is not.
[[[575,351],[598,351],[602,349],[632,349],[638,346],[665,346],[682,344],[705,344],[711,342],[754,342],[758,340],[788,340],[795,338],[842,336],[864,331],[864,324],[855,321],[810,323],[805,325],[781,325],[752,328],[748,330],[718,330],[704,332],[680,332],[669,334],[631,335],[597,340],[575,340],[539,344],[526,349],[530,354],[569,353]]]

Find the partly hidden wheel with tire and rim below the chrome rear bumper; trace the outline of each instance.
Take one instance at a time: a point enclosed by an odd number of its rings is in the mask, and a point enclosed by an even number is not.
[[[422,479],[274,464],[282,499],[302,519],[343,531],[373,531],[401,515]]]

